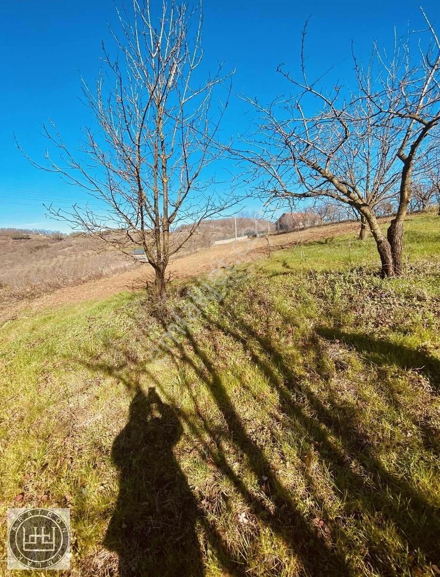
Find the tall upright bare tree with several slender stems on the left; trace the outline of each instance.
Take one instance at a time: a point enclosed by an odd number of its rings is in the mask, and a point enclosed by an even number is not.
[[[172,255],[204,219],[236,200],[217,194],[206,172],[219,158],[215,140],[230,93],[219,85],[231,75],[224,76],[220,65],[204,83],[194,79],[202,59],[200,6],[133,0],[130,10],[116,12],[111,34],[118,57],[112,59],[103,44],[96,89],[84,83],[94,125],[85,129],[80,151],[72,152],[51,122],[44,133],[59,158],[47,152],[47,165],[33,164],[101,203],[67,212],[50,206],[51,215],[125,252],[141,246],[155,270],[156,292],[164,295]],[[224,102],[212,117],[216,87]]]

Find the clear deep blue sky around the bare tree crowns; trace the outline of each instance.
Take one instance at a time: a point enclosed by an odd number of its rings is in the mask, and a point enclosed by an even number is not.
[[[118,1],[118,0],[117,0]],[[154,0],[153,0],[154,1]],[[159,0],[156,0],[159,1]],[[393,28],[404,33],[423,25],[420,0],[205,0],[205,66],[217,61],[236,68],[234,90],[269,100],[288,91],[276,66],[295,70],[300,31],[311,15],[309,67],[325,70],[339,64],[339,80],[351,76],[351,41],[356,53],[367,54],[373,40],[386,46]],[[437,29],[440,2],[424,0],[423,8]],[[42,123],[52,118],[65,140],[75,144],[87,123],[79,102],[80,74],[92,81],[99,70],[101,41],[108,38],[107,21],[114,20],[111,0],[6,0],[0,22],[0,227],[44,227],[68,230],[48,220],[43,200],[61,205],[84,198],[56,175],[30,166],[16,149],[13,133],[35,159],[46,143]],[[232,99],[223,133],[245,129],[243,105]]]

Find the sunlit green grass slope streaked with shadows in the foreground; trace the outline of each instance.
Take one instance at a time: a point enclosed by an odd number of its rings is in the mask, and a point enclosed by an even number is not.
[[[1,542],[70,507],[72,575],[440,574],[440,219],[405,230],[399,279],[345,235],[9,321]]]

